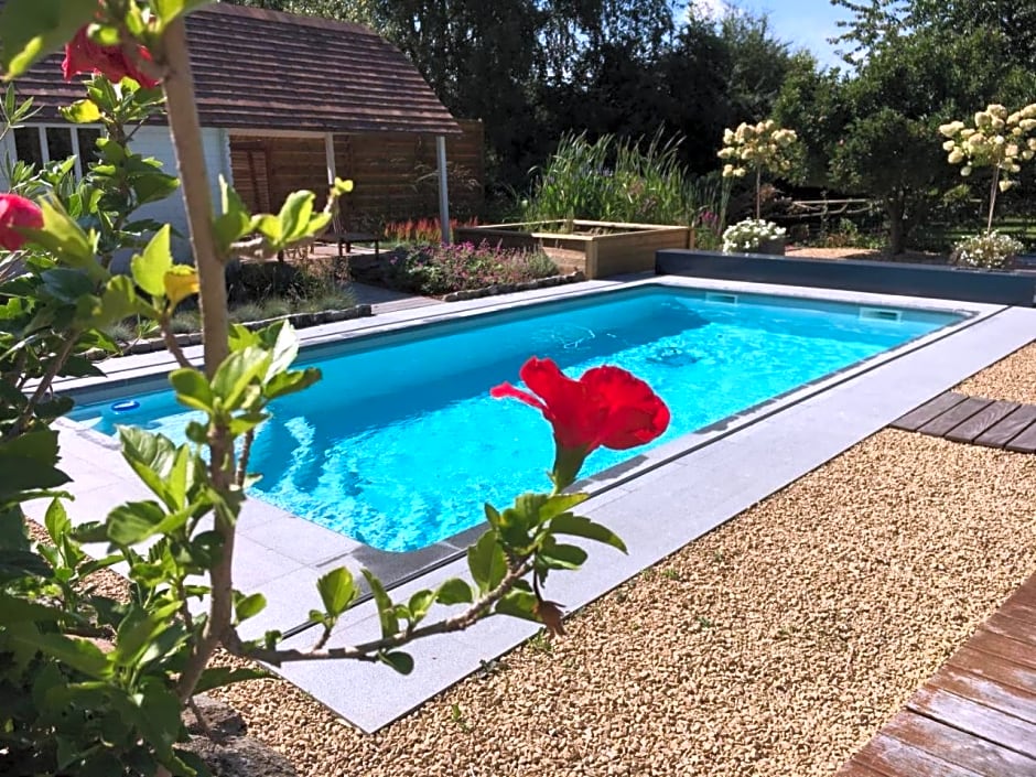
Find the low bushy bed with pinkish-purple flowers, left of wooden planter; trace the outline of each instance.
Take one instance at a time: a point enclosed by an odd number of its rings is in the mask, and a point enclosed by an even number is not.
[[[384,280],[393,288],[420,294],[449,294],[500,283],[520,283],[558,274],[558,267],[542,251],[475,246],[414,246],[397,251],[384,268]]]

